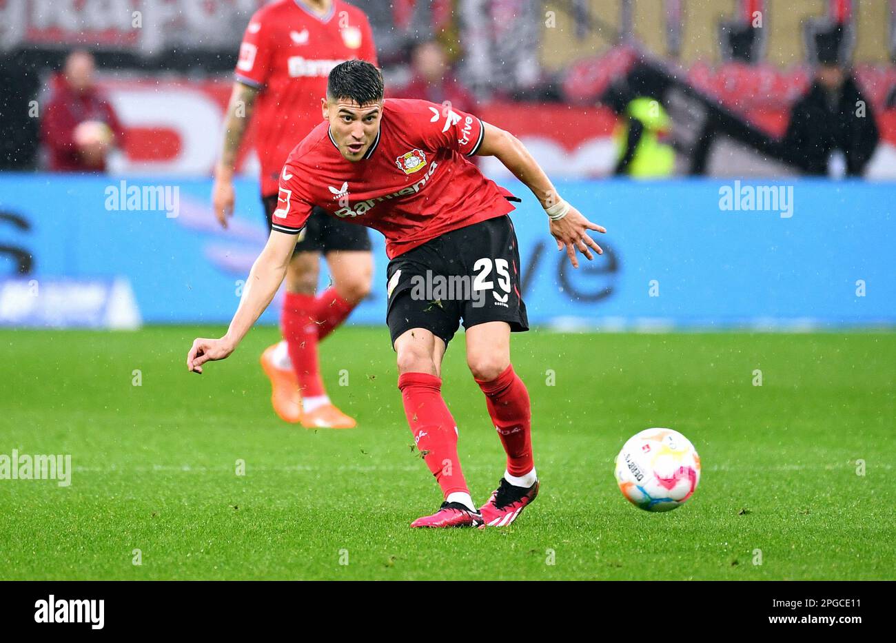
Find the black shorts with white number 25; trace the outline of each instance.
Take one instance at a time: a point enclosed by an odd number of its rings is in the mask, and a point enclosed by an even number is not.
[[[520,252],[507,215],[461,227],[403,253],[386,269],[386,323],[395,339],[423,328],[445,346],[463,320],[469,329],[507,322],[529,330],[520,296]]]

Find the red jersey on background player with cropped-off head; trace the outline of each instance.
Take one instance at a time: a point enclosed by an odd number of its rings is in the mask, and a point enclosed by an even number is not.
[[[297,0],[267,4],[252,16],[236,75],[237,81],[261,90],[255,99],[254,143],[263,195],[277,192],[289,150],[321,122],[330,70],[351,58],[376,64],[376,49],[364,12],[342,0],[333,0],[323,18]]]

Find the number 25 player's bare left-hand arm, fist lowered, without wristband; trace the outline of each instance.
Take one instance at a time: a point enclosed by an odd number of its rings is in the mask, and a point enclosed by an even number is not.
[[[271,304],[277,288],[286,276],[289,259],[296,247],[296,235],[274,230],[268,237],[258,259],[249,271],[243,296],[239,300],[237,313],[224,337],[220,339],[197,338],[186,356],[186,367],[193,373],[202,373],[202,364],[224,359],[236,350],[237,345],[252,325]]]

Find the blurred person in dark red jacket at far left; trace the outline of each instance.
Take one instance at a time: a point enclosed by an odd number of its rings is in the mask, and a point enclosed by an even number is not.
[[[95,68],[89,52],[76,50],[53,78],[53,93],[40,123],[49,170],[104,172],[108,153],[124,142],[115,110],[94,84]]]

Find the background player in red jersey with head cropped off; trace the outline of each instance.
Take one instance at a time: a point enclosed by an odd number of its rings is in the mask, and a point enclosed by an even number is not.
[[[233,212],[233,172],[243,134],[254,118],[262,169],[262,202],[271,226],[280,168],[296,143],[321,122],[317,99],[327,74],[352,58],[376,63],[366,16],[342,0],[280,0],[256,12],[239,48],[233,92],[212,202],[220,224]],[[321,254],[332,286],[316,294]],[[355,420],[332,405],[323,388],[317,343],[370,291],[373,259],[363,227],[314,210],[297,238],[280,316],[283,341],[264,351],[271,403],[288,422],[308,428],[350,428]]]

